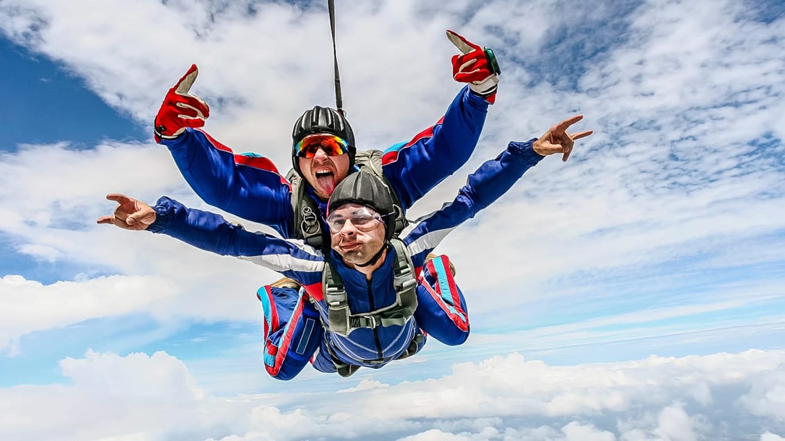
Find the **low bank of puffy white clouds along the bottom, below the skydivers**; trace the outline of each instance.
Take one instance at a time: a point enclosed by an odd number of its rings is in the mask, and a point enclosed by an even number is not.
[[[71,385],[0,389],[0,428],[12,438],[43,439],[691,441],[757,434],[773,441],[781,439],[772,430],[785,427],[783,416],[758,415],[742,397],[756,378],[783,367],[782,351],[579,366],[513,353],[382,389],[358,384],[339,392],[356,380],[325,375],[327,389],[308,399],[287,392],[217,397],[165,352],[88,351],[60,362]],[[696,385],[714,397],[696,399],[689,392]],[[772,385],[782,388],[782,376]],[[77,399],[78,408],[69,406]],[[570,406],[554,406],[567,399]],[[51,417],[27,425],[40,414]]]

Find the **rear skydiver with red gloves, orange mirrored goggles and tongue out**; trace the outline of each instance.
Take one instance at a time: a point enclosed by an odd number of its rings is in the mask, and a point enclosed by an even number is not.
[[[234,154],[199,129],[210,108],[190,93],[198,74],[195,65],[166,94],[155,117],[155,139],[169,148],[203,201],[270,226],[281,237],[328,250],[327,200],[341,180],[358,171],[373,173],[392,193],[395,230],[400,231],[407,224],[406,209],[469,159],[498,89],[500,70],[493,51],[454,31],[447,31],[447,38],[461,52],[452,56],[453,78],[466,87],[436,125],[387,150],[358,151],[344,114],[316,106],[294,124],[293,168],[284,179],[268,158]],[[294,280],[284,279],[261,289],[297,287]]]

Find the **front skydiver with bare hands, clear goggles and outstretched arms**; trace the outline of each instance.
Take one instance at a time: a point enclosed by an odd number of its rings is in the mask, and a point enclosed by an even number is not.
[[[551,154],[568,154],[587,130],[568,134],[582,119],[568,118],[537,139],[511,142],[469,175],[449,204],[419,219],[402,238],[389,189],[374,175],[355,172],[327,202],[330,250],[302,240],[251,233],[214,213],[186,208],[169,197],[154,207],[122,194],[97,220],[126,230],[148,230],[220,255],[234,255],[296,280],[296,295],[260,291],[265,311],[265,367],[288,380],[309,361],[317,371],[349,376],[419,352],[427,338],[460,345],[469,336],[466,300],[447,256],[427,259],[451,230],[501,197],[529,168]]]

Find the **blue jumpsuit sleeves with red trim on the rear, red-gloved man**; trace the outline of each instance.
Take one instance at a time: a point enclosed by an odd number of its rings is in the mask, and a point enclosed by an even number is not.
[[[385,150],[382,172],[404,210],[469,160],[487,107],[485,99],[465,87],[436,125]],[[298,237],[290,184],[268,158],[234,154],[206,132],[192,128],[161,143],[169,147],[186,182],[207,204],[270,226],[281,237]],[[327,202],[308,194],[324,219]]]

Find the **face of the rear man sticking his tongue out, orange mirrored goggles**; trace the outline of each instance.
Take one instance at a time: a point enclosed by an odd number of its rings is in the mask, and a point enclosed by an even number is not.
[[[306,136],[301,143],[309,143],[320,138],[333,138],[329,134],[316,134]],[[316,196],[323,201],[330,198],[330,194],[335,190],[335,186],[349,174],[349,152],[344,154],[330,155],[335,153],[327,145],[318,148],[313,157],[298,157],[300,172],[316,191]]]

